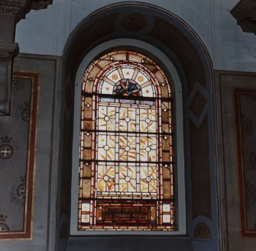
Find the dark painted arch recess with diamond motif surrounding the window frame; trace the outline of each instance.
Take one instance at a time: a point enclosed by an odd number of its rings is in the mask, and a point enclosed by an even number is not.
[[[194,237],[206,238],[207,241],[203,245],[207,248],[211,246],[212,250],[216,250],[218,233],[212,130],[212,63],[202,41],[188,24],[174,14],[153,5],[121,3],[102,8],[82,21],[66,43],[63,53],[63,123],[60,143],[63,157],[60,158],[60,166],[62,166],[60,217],[70,218],[70,199],[67,195],[70,195],[71,189],[72,150],[70,146],[73,142],[76,71],[90,50],[100,43],[117,38],[135,38],[157,47],[172,61],[183,85],[183,129],[186,146],[184,161],[188,198],[186,201],[187,235],[179,239],[159,237],[152,240],[150,246],[160,250],[163,246],[157,248],[156,246],[160,244],[160,240],[164,240],[165,246],[176,243],[177,250],[193,249],[193,240],[190,239],[193,236],[190,233],[193,233],[195,228],[196,233],[201,233],[198,226],[206,226],[210,232],[207,238],[210,236],[210,239],[207,239],[205,234],[202,236],[196,234]],[[147,239],[134,237],[138,245],[142,245],[145,240]],[[96,248],[95,241],[88,239],[86,241],[84,238],[76,240],[70,237],[69,245],[76,246],[77,242],[80,242]],[[129,246],[131,242],[125,237],[118,239],[114,249],[118,249],[118,242],[122,243],[122,241],[126,242],[124,248],[136,249],[135,246]],[[105,245],[111,242],[111,238],[104,238]]]

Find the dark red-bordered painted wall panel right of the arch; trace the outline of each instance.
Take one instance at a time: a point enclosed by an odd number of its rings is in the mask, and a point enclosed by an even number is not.
[[[242,237],[256,237],[256,90],[235,91]]]

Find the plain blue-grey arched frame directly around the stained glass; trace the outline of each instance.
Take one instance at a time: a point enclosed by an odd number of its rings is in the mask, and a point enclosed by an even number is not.
[[[78,193],[79,193],[79,132],[80,132],[80,112],[81,112],[81,85],[83,83],[84,73],[96,56],[104,53],[106,50],[115,50],[118,47],[128,47],[133,50],[144,51],[144,54],[154,55],[168,69],[168,73],[173,78],[173,108],[175,109],[175,118],[173,127],[175,131],[175,214],[177,214],[177,229],[174,231],[90,231],[78,229]],[[151,57],[151,56],[150,56]],[[78,236],[86,235],[184,235],[186,234],[186,201],[185,201],[185,173],[184,173],[184,147],[183,147],[183,103],[182,103],[182,88],[180,77],[173,63],[156,47],[140,40],[134,39],[116,39],[109,40],[95,47],[86,54],[79,69],[76,72],[75,82],[75,101],[74,101],[74,121],[73,121],[73,166],[72,166],[72,186],[71,186],[71,217],[70,217],[70,234]]]

